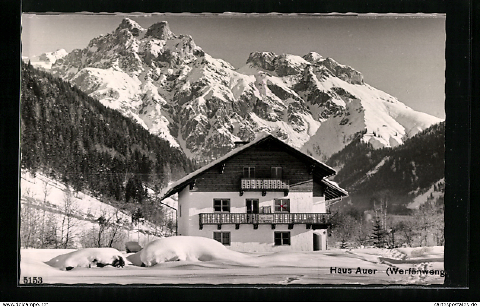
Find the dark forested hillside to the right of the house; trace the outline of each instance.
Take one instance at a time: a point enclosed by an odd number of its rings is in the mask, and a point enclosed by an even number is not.
[[[391,203],[406,204],[444,177],[445,124],[418,133],[396,148],[373,149],[351,142],[332,155],[328,165],[340,169],[335,181],[358,207],[372,205],[375,194],[388,194]]]

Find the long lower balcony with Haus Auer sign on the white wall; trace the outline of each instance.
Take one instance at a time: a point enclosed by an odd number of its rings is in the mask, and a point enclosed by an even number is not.
[[[330,213],[200,213],[200,229],[205,224],[215,224],[217,229],[222,224],[235,224],[235,229],[240,224],[253,224],[258,229],[259,224],[271,224],[275,229],[276,224],[288,224],[292,229],[294,224],[304,224],[306,229],[324,229],[330,225]]]

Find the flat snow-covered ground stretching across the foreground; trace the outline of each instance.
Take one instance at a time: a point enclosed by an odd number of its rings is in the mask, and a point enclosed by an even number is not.
[[[172,237],[175,238],[175,237]],[[171,238],[171,239],[172,239]],[[158,246],[158,241],[156,243]],[[53,258],[71,253],[66,249],[22,249],[20,283],[24,277],[42,277],[42,284],[442,284],[444,277],[444,248],[378,248],[332,249],[325,251],[238,253],[209,247],[210,256],[204,249],[182,250],[187,260],[154,263],[150,267],[134,265],[138,260],[159,255],[152,251],[153,243],[137,254],[125,254],[124,268],[92,266],[88,268],[79,260],[79,265],[70,271],[59,269],[61,265],[49,266]],[[193,247],[194,249],[195,247]],[[213,250],[213,252],[212,252]],[[178,251],[178,250],[177,250]],[[111,249],[107,251],[111,254]],[[166,249],[162,250],[165,255]],[[189,254],[190,253],[190,254]],[[195,254],[196,253],[196,254]],[[78,255],[85,254],[76,253]],[[75,254],[72,254],[75,255]],[[192,256],[193,255],[193,256]],[[133,256],[133,257],[132,257]],[[177,258],[178,253],[172,257]],[[163,256],[162,256],[163,257]],[[182,258],[182,257],[180,257]],[[227,259],[228,258],[228,259]],[[58,259],[58,258],[57,258]],[[62,259],[60,257],[60,259]],[[72,257],[64,257],[72,263]],[[69,259],[69,260],[67,260]],[[209,259],[209,260],[205,260]],[[91,260],[91,259],[90,259]],[[132,260],[132,261],[129,261]],[[82,260],[83,261],[83,260]],[[51,263],[51,262],[49,262]],[[360,268],[360,272],[357,272]],[[336,273],[333,270],[345,273]],[[351,269],[348,272],[348,269]],[[396,269],[403,269],[396,271]],[[410,272],[408,271],[410,269]],[[371,270],[371,271],[368,271]],[[422,273],[413,274],[412,272]],[[426,271],[428,270],[428,272]],[[432,270],[432,271],[431,271]],[[435,274],[437,271],[437,274]],[[425,273],[427,272],[427,273]],[[433,273],[433,274],[432,274]]]

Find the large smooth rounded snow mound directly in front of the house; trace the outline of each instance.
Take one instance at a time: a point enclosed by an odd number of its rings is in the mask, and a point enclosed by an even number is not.
[[[151,242],[138,253],[127,257],[134,265],[150,267],[177,260],[244,260],[248,256],[229,250],[220,242],[199,236],[169,236]]]

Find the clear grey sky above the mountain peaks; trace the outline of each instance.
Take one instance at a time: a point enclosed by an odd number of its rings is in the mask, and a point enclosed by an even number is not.
[[[114,31],[127,15],[23,15],[22,56],[84,48]],[[147,28],[167,21],[177,35],[236,68],[250,53],[331,57],[414,110],[445,118],[445,17],[128,15]]]

